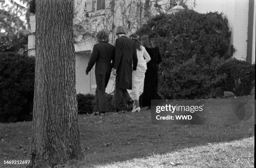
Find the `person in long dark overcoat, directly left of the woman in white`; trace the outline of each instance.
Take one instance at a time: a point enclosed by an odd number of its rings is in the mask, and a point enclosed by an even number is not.
[[[125,36],[123,26],[118,26],[115,33],[115,61],[113,74],[115,79],[115,105],[116,111],[131,111],[133,99],[127,92],[132,89],[132,71],[136,71],[138,64],[136,46],[133,40]]]

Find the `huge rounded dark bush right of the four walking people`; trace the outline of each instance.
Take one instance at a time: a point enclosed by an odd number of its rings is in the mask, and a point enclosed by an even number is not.
[[[159,46],[162,63],[159,93],[164,99],[195,99],[212,96],[225,75],[216,68],[231,55],[231,32],[223,13],[201,14],[185,10],[156,15],[137,33],[148,35]]]

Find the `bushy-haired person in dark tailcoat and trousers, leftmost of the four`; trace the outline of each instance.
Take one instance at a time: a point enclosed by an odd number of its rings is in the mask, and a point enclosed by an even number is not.
[[[113,65],[111,61],[115,58],[115,47],[108,43],[108,33],[104,30],[99,31],[96,35],[99,43],[95,44],[92,49],[92,54],[88,62],[85,73],[88,74],[95,62],[95,78],[96,78],[96,112],[108,112],[108,103],[106,97],[106,87],[110,78]]]

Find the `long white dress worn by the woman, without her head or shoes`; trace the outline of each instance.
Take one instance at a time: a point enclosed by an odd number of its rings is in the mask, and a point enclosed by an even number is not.
[[[137,49],[138,64],[136,71],[132,73],[132,89],[127,89],[129,95],[133,100],[138,100],[143,93],[145,72],[147,70],[147,63],[151,60],[145,47],[141,46],[141,50]]]

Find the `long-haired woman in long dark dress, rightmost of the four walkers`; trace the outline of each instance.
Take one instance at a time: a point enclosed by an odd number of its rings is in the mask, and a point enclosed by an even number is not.
[[[162,61],[159,53],[159,48],[156,47],[148,36],[141,38],[141,45],[146,48],[151,60],[147,63],[147,70],[145,73],[144,89],[141,95],[140,104],[146,109],[151,107],[151,99],[156,99],[158,92],[158,68],[157,65]]]

